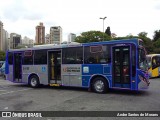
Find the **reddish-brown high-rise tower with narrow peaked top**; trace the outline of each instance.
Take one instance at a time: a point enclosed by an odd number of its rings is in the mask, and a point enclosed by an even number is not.
[[[42,22],[36,26],[36,44],[45,44],[45,26]]]

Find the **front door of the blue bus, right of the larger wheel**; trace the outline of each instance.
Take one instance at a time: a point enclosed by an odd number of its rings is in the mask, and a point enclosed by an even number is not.
[[[130,46],[116,46],[113,52],[113,83],[112,87],[130,88]]]

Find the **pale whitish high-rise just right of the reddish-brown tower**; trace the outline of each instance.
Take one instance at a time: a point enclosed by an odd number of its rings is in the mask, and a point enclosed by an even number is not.
[[[62,43],[62,28],[55,26],[50,28],[50,44]]]

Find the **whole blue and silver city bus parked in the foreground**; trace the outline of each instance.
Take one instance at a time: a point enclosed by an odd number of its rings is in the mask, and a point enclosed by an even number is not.
[[[140,90],[149,86],[146,51],[140,39],[39,45],[8,50],[6,79],[39,85]]]

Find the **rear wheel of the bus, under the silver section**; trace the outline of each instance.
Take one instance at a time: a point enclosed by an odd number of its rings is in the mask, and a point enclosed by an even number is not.
[[[33,88],[37,88],[39,87],[40,83],[39,83],[39,78],[37,75],[32,75],[29,79],[29,85]]]

